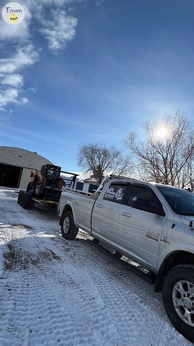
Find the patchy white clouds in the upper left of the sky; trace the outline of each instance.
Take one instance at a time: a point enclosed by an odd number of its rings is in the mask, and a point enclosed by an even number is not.
[[[67,6],[75,1],[84,0],[26,0],[22,4],[25,9],[22,23],[9,25],[0,21],[1,45],[9,43],[12,52],[9,57],[0,59],[0,110],[5,110],[11,102],[28,102],[27,98],[18,97],[24,85],[24,79],[18,72],[38,59],[38,51],[32,44],[35,30],[41,32],[54,52],[65,48],[73,40],[77,19],[67,12]],[[30,26],[32,19],[33,27]],[[36,89],[29,88],[28,91],[35,93]]]

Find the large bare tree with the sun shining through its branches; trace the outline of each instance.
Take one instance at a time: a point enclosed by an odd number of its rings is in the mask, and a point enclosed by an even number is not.
[[[146,139],[137,140],[129,133],[124,141],[138,164],[143,180],[154,180],[172,186],[188,187],[194,182],[193,129],[183,111],[165,114],[160,123],[143,123]]]

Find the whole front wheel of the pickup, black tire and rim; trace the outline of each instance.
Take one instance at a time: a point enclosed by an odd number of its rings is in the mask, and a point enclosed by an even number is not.
[[[194,265],[182,264],[172,268],[164,279],[162,296],[174,327],[194,342]]]

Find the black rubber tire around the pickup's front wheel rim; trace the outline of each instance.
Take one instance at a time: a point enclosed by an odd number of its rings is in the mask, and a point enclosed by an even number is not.
[[[194,265],[182,264],[172,268],[163,281],[162,297],[166,313],[173,326],[189,341],[194,342],[194,327],[186,324],[177,314],[172,298],[175,284],[188,281],[194,285]],[[194,304],[194,300],[193,300]],[[192,305],[193,306],[193,305]]]

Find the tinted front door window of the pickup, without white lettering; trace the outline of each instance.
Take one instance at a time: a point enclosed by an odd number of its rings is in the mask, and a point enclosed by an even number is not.
[[[133,186],[127,205],[132,208],[152,212],[154,208],[160,208],[161,203],[149,187]]]

